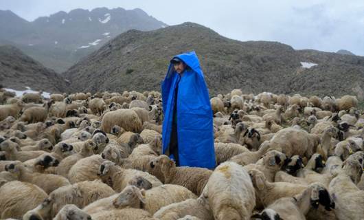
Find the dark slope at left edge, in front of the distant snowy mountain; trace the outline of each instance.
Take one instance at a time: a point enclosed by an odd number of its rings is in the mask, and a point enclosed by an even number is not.
[[[9,45],[0,46],[0,84],[5,88],[62,92],[68,83],[62,76]]]

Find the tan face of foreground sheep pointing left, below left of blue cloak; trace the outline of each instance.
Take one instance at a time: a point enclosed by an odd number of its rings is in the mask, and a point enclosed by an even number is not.
[[[146,203],[145,191],[136,186],[126,186],[120,195],[113,200],[115,208],[142,208],[142,203]]]

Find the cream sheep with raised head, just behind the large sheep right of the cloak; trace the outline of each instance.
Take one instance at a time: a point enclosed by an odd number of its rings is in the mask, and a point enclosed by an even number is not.
[[[269,147],[269,141],[265,141],[260,145],[258,151],[245,151],[244,153],[240,153],[238,155],[235,155],[234,157],[231,157],[229,161],[236,162],[241,166],[255,164],[255,162],[257,162],[258,159],[260,159],[260,157],[262,157],[266,153],[266,151],[268,151]]]

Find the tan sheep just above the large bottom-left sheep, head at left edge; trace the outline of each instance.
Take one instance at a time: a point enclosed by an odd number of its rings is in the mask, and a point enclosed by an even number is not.
[[[62,186],[68,186],[69,181],[65,177],[58,175],[32,173],[21,162],[12,162],[5,166],[5,170],[12,173],[20,181],[27,181],[42,188],[47,194]]]

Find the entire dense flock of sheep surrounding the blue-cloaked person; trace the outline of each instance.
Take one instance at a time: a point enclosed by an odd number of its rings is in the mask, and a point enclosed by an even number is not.
[[[212,98],[216,168],[161,155],[161,94],[0,89],[0,219],[363,219],[354,96]]]

